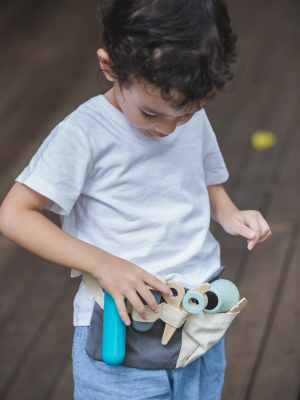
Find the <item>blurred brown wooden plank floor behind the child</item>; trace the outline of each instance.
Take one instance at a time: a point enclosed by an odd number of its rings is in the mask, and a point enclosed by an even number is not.
[[[300,2],[228,0],[240,69],[206,107],[227,164],[225,188],[259,210],[272,237],[246,239],[212,223],[223,277],[249,301],[225,335],[222,400],[300,400]],[[101,47],[95,1],[11,0],[0,13],[0,203],[50,131],[89,98]],[[252,134],[271,131],[264,150]],[[268,136],[269,137],[269,136]],[[261,142],[260,142],[261,143]],[[59,225],[59,217],[44,211]],[[80,278],[0,234],[0,398],[73,398],[73,299]]]

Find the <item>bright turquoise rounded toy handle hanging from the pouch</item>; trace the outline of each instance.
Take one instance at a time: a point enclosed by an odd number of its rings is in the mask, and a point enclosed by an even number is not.
[[[126,325],[114,299],[104,290],[102,360],[108,365],[120,365],[125,358],[125,344]]]

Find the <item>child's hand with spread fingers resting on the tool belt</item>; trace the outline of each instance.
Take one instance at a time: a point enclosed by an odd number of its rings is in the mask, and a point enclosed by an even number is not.
[[[173,292],[169,286],[160,281],[156,276],[127,260],[111,254],[110,256],[112,258],[109,257],[108,260],[101,263],[101,266],[96,267],[91,274],[99,281],[103,289],[113,297],[120,317],[126,325],[130,325],[130,318],[126,311],[125,298],[130,301],[143,319],[147,320],[149,318],[147,318],[148,314],[145,306],[137,292],[153,312],[159,312],[158,304],[146,285],[167,296],[173,296]]]

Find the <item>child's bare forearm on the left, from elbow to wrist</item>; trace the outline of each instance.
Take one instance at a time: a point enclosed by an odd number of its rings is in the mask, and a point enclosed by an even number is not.
[[[28,251],[54,263],[92,275],[113,256],[64,232],[36,210],[18,210],[1,223],[1,232]]]

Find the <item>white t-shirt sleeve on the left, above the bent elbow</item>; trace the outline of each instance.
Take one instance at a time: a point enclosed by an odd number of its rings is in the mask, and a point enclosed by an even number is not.
[[[91,167],[86,134],[72,123],[63,121],[47,136],[15,181],[48,197],[47,210],[69,215]]]

